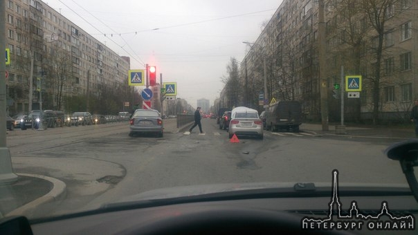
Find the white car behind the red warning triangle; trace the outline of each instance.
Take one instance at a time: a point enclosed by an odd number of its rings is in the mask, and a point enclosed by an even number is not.
[[[263,139],[263,122],[258,111],[247,107],[237,107],[231,112],[229,138],[233,135],[252,135]]]

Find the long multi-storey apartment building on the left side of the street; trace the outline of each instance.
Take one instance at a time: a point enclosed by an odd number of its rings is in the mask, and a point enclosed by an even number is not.
[[[121,57],[42,1],[6,0],[6,48],[10,49],[8,110],[65,109],[64,97],[100,95],[126,83],[129,57]],[[31,72],[31,69],[33,71]]]

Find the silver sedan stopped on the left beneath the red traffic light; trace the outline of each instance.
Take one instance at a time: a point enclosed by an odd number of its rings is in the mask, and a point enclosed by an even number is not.
[[[153,109],[137,109],[129,120],[129,136],[136,133],[156,133],[163,137],[163,118]]]

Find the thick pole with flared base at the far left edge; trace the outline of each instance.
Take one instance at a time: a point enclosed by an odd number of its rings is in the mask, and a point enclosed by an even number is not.
[[[0,1],[0,52],[6,52],[6,1]],[[0,115],[6,118],[6,57],[0,60]],[[8,58],[10,59],[10,58]],[[1,119],[3,120],[3,119]],[[0,122],[0,183],[10,183],[17,180],[13,173],[12,158],[6,143],[6,122]]]

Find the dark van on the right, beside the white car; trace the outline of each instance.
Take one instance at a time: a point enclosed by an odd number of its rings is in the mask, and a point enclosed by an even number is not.
[[[282,101],[269,106],[269,116],[266,118],[266,129],[278,131],[299,131],[302,124],[302,106],[297,101]]]

